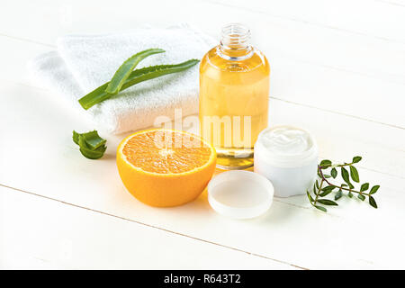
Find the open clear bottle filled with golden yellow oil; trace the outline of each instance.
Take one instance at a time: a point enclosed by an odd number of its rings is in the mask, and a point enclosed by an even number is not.
[[[252,166],[253,146],[267,127],[270,67],[249,36],[241,24],[224,27],[220,45],[200,65],[201,135],[221,168]]]

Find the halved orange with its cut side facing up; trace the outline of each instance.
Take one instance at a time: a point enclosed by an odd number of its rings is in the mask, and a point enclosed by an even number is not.
[[[179,130],[131,134],[117,149],[117,166],[127,190],[151,206],[181,205],[197,198],[215,170],[215,148]]]

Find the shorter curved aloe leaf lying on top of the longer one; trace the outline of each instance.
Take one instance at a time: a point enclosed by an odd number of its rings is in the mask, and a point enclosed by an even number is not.
[[[125,83],[125,80],[130,76],[130,72],[137,67],[138,63],[147,58],[150,55],[163,53],[164,49],[152,48],[140,51],[139,53],[131,56],[125,62],[122,63],[121,67],[115,72],[110,83],[107,85],[105,92],[109,94],[117,94],[121,90],[121,86]]]

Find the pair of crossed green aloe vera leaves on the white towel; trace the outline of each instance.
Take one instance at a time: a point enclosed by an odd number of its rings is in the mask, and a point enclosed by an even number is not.
[[[121,67],[119,67],[114,76],[112,76],[110,82],[107,82],[95,88],[92,92],[85,94],[85,96],[80,98],[78,102],[85,110],[87,110],[95,104],[111,98],[113,95],[118,94],[120,91],[125,90],[132,85],[159,76],[184,71],[200,62],[198,59],[190,59],[179,64],[150,66],[132,71],[142,59],[153,54],[163,53],[164,51],[165,50],[163,49],[154,48],[133,55],[122,63]]]

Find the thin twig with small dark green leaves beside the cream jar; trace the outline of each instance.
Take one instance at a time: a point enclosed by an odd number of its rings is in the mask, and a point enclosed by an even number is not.
[[[352,181],[360,183],[360,176],[358,175],[358,171],[354,165],[360,162],[361,159],[362,157],[356,156],[353,157],[351,163],[335,165],[332,164],[332,162],[328,159],[320,161],[320,165],[318,165],[319,179],[317,179],[315,184],[313,184],[312,193],[307,191],[307,196],[311,202],[311,205],[320,211],[326,212],[328,210],[324,206],[338,206],[336,201],[342,198],[344,192],[347,192],[347,196],[349,198],[353,198],[354,193],[356,193],[357,198],[361,201],[365,201],[365,198],[368,197],[369,204],[374,208],[377,208],[377,203],[372,195],[377,193],[380,185],[374,185],[367,193],[370,184],[361,184],[360,189],[357,190],[355,189],[355,185],[352,184]],[[338,170],[340,170],[340,175],[345,182],[343,184],[331,183],[330,178],[336,179],[338,176]],[[327,171],[329,171],[329,174],[325,173]],[[328,196],[333,191],[335,191],[335,201],[323,198]]]

